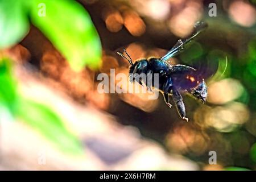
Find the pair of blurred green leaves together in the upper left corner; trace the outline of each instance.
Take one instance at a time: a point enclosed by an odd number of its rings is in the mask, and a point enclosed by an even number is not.
[[[0,49],[20,42],[28,19],[64,55],[75,71],[98,68],[101,43],[86,10],[73,0],[0,1]]]

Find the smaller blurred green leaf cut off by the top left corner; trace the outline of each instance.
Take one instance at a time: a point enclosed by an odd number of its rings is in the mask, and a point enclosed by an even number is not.
[[[13,46],[29,28],[23,0],[0,0],[0,49]]]

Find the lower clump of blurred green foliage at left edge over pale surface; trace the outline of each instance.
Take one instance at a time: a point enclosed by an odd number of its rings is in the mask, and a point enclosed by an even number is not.
[[[4,110],[39,131],[61,151],[82,154],[80,140],[65,127],[59,115],[50,107],[28,100],[18,92],[9,59],[0,60],[0,81],[0,105]]]

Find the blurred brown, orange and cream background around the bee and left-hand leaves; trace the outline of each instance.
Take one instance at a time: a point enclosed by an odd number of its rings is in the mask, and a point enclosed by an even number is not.
[[[5,53],[15,60],[20,92],[60,114],[84,153],[65,154],[24,122],[2,122],[0,169],[255,169],[255,1],[78,2],[101,39],[100,70],[72,71],[34,26]],[[217,5],[216,17],[208,14],[210,3]],[[206,104],[183,96],[188,123],[162,95],[148,100],[147,94],[97,92],[98,73],[129,72],[116,51],[126,48],[133,60],[163,56],[197,20],[207,22],[207,30],[170,59],[199,69],[208,85]],[[216,151],[217,164],[209,164],[209,151]]]

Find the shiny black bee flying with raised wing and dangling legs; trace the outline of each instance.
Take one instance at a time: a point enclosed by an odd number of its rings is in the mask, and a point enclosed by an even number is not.
[[[141,85],[145,84],[147,89],[151,90],[151,87],[154,84],[148,84],[147,81],[140,78],[138,79],[133,75],[158,73],[159,84],[156,89],[159,89],[163,93],[164,101],[169,107],[172,107],[170,103],[170,97],[172,96],[177,112],[180,117],[186,121],[188,121],[188,118],[186,118],[185,105],[180,92],[187,92],[191,94],[192,97],[205,103],[207,100],[207,85],[205,84],[204,78],[196,72],[195,68],[181,64],[172,65],[167,63],[167,60],[180,53],[184,49],[184,45],[195,38],[195,36],[204,30],[205,27],[207,27],[207,23],[205,22],[195,23],[193,27],[194,31],[191,36],[188,36],[188,38],[185,39],[179,39],[175,46],[172,47],[166,55],[160,58],[151,57],[149,59],[141,59],[133,63],[133,60],[125,49],[123,49],[123,51],[126,53],[127,57],[122,53],[117,52],[118,55],[128,60],[131,65],[129,71],[131,82],[137,81]]]

